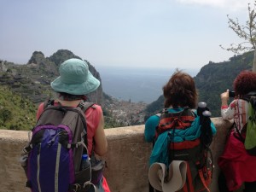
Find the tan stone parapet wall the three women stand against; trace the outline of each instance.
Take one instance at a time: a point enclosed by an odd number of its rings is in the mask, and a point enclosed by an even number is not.
[[[231,123],[221,118],[212,118],[217,127],[213,138],[212,154],[215,165],[211,185],[218,192],[217,159],[224,149],[224,141]],[[106,130],[108,154],[104,175],[112,192],[148,192],[148,158],[151,143],[145,143],[143,125]],[[27,131],[0,130],[0,192],[26,192],[26,177],[18,162],[21,148],[26,144]]]

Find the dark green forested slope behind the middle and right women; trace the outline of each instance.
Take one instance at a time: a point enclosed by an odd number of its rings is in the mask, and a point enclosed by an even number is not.
[[[253,67],[253,51],[243,55],[235,55],[229,61],[212,62],[201,68],[194,77],[195,86],[199,93],[199,102],[207,102],[212,117],[220,116],[220,94],[225,90],[233,90],[233,81],[242,70],[251,70]],[[164,96],[152,102],[145,109],[145,119],[163,108]]]

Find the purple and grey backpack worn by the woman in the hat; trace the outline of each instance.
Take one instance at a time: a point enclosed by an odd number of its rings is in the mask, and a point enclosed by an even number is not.
[[[32,129],[26,154],[26,187],[32,192],[87,191],[91,166],[81,170],[87,151],[84,112],[94,103],[80,102],[77,108],[54,106],[49,100]]]

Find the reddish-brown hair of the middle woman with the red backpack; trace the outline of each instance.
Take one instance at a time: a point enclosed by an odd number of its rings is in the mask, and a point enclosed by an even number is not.
[[[189,107],[195,108],[197,104],[197,92],[195,81],[188,74],[177,70],[171,79],[163,87],[165,96],[165,108]]]

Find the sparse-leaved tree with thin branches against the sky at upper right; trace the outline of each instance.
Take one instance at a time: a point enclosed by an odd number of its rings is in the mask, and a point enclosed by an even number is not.
[[[256,0],[253,3],[253,6],[248,3],[248,20],[246,21],[245,25],[241,25],[239,20],[236,20],[228,17],[228,23],[230,29],[233,32],[236,32],[236,35],[242,39],[240,44],[230,44],[229,48],[224,48],[223,45],[219,45],[222,49],[226,49],[228,51],[232,51],[235,54],[243,54],[245,52],[254,50],[254,60],[253,60],[253,72],[256,72]]]

